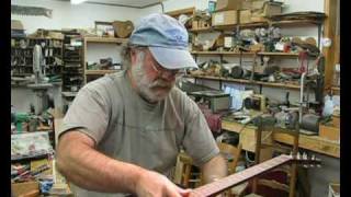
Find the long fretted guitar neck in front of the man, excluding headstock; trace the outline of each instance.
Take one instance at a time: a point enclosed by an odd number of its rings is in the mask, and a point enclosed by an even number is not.
[[[271,160],[268,160],[265,162],[262,162],[258,165],[254,165],[252,167],[249,167],[245,171],[235,173],[233,175],[229,175],[227,177],[224,177],[222,179],[218,179],[216,182],[203,185],[201,187],[195,188],[191,196],[214,196],[219,194],[220,192],[236,186],[242,182],[246,182],[247,179],[250,179],[254,176],[258,176],[262,174],[263,172],[267,172],[269,170],[272,170],[274,167],[278,167],[280,165],[283,165],[292,160],[291,157],[286,154],[279,155],[276,158],[273,158]]]

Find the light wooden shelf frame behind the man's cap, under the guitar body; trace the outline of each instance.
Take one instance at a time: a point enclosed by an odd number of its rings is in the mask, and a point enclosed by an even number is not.
[[[115,44],[115,45],[122,45],[127,43],[127,38],[114,38],[114,37],[84,37],[83,38],[83,62],[84,62],[84,68],[83,68],[83,78],[84,78],[84,83],[95,80],[106,73],[113,73],[118,70],[88,70],[87,69],[87,63],[88,63],[88,44],[89,43],[95,43],[95,44]]]

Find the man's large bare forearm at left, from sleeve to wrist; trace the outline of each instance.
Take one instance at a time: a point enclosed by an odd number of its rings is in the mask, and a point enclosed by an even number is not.
[[[58,147],[57,164],[59,171],[68,181],[87,189],[133,193],[136,179],[145,170],[113,160],[95,151],[87,139],[89,137],[82,135],[75,132],[61,137],[66,139],[61,140],[63,142]]]

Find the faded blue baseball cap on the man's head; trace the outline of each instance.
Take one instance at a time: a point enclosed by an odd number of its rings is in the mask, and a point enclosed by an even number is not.
[[[160,13],[139,21],[129,44],[147,46],[154,58],[167,69],[197,68],[188,49],[188,32],[182,23]]]

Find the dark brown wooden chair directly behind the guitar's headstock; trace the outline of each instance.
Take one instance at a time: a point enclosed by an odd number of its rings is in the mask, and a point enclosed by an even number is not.
[[[262,131],[271,131],[271,142],[265,143],[262,141]],[[276,135],[287,135],[286,137],[292,139],[293,146],[292,147],[285,147],[276,142],[275,136]],[[287,128],[279,128],[274,126],[264,126],[262,124],[262,119],[259,119],[259,127],[257,129],[257,142],[256,142],[256,155],[254,155],[254,163],[258,164],[261,161],[261,151],[263,149],[271,149],[271,151],[274,153],[285,153],[290,154],[292,153],[293,155],[296,155],[298,152],[298,137],[299,137],[299,127],[298,124],[295,125],[294,128],[287,129]],[[287,174],[287,179],[286,183],[280,183],[274,179],[268,179],[268,178],[262,178],[256,177],[253,178],[252,182],[252,192],[254,194],[258,194],[258,186],[264,186],[264,187],[270,187],[272,189],[279,189],[279,190],[284,190],[286,194],[288,194],[288,197],[294,197],[295,196],[295,186],[296,186],[296,176],[297,176],[297,169],[296,164],[291,164],[284,165],[275,171],[281,171]],[[272,171],[271,171],[272,172]]]

